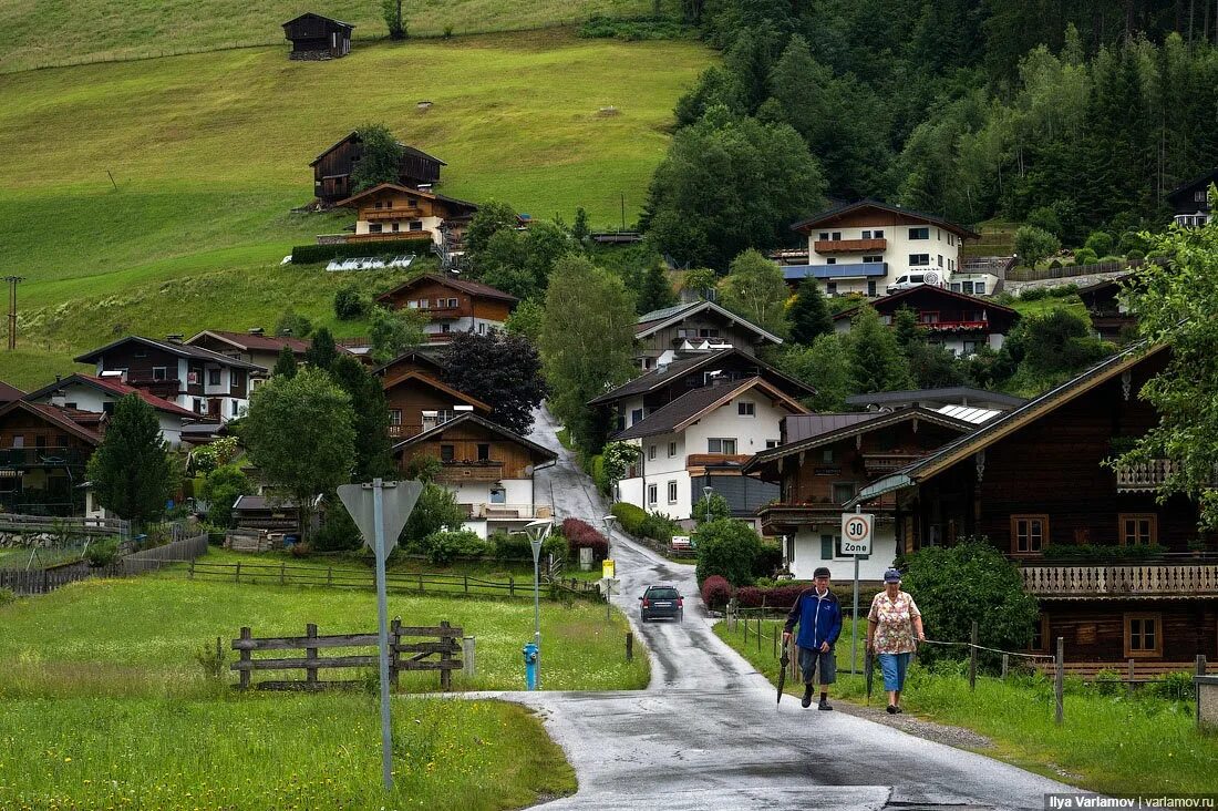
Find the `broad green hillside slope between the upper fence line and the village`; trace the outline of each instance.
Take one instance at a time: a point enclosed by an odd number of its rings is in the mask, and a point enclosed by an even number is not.
[[[605,226],[625,193],[633,220],[672,105],[710,60],[694,43],[548,30],[326,63],[242,49],[5,77],[0,267],[28,280],[23,351],[0,356],[0,378],[43,383],[123,332],[269,327],[285,302],[330,318],[350,278],[278,262],[353,220],[291,209],[312,200],[308,162],[363,122],[447,161],[448,195],[568,221],[582,205]]]

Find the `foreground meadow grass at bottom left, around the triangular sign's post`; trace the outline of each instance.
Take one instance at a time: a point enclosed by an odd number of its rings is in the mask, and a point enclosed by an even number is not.
[[[0,807],[514,809],[575,791],[525,709],[392,701],[395,790],[371,694],[0,701]]]

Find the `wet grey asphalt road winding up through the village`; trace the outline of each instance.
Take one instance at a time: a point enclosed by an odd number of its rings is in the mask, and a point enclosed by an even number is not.
[[[532,439],[559,451],[537,472],[537,500],[592,521],[607,505],[540,411]],[[775,689],[711,633],[692,566],[614,533],[614,598],[652,657],[647,690],[502,693],[537,710],[566,751],[579,793],[559,809],[1044,809],[1071,787],[844,712],[775,702]],[[648,583],[677,583],[683,622],[638,621]],[[542,640],[544,662],[544,640]],[[542,670],[544,685],[544,668]]]

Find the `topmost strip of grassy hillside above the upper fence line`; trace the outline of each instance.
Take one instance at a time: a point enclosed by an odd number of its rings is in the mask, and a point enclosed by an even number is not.
[[[663,4],[671,5],[674,0]],[[648,0],[410,0],[402,4],[402,15],[412,34],[437,37],[449,27],[457,35],[525,30],[597,13],[650,13],[652,7]],[[359,40],[386,33],[379,0],[323,0],[308,6],[297,0],[9,0],[0,4],[0,30],[7,34],[0,72],[236,45],[281,44],[286,54],[281,26],[303,11],[353,23],[357,48]]]

